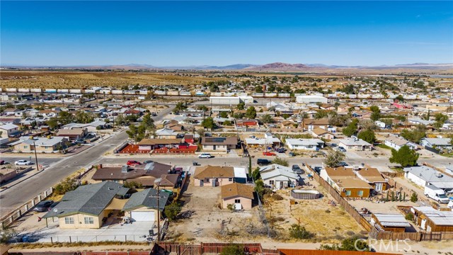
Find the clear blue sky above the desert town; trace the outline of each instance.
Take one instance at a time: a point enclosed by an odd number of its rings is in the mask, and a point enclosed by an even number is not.
[[[0,4],[0,64],[453,62],[453,1]]]

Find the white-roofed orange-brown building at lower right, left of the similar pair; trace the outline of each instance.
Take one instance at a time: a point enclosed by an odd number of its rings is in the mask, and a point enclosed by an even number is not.
[[[379,230],[391,232],[406,232],[406,227],[411,227],[401,214],[373,213],[371,224]]]

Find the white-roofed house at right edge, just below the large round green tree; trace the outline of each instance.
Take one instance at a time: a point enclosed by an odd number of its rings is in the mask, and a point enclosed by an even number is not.
[[[418,186],[425,187],[429,184],[442,188],[444,191],[453,189],[453,177],[441,173],[429,166],[411,166],[403,169],[404,177],[413,181]]]

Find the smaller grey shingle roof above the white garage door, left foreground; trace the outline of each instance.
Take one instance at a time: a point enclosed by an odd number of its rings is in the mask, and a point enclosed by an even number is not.
[[[159,191],[159,195],[159,209],[164,210],[169,195],[165,191]],[[129,211],[142,207],[157,209],[156,189],[148,188],[144,191],[133,193],[122,210]]]

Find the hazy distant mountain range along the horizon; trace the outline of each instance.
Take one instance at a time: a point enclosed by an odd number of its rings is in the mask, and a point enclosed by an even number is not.
[[[453,69],[453,63],[446,64],[428,64],[428,63],[413,63],[413,64],[395,64],[381,66],[340,66],[327,64],[288,64],[282,62],[274,62],[270,64],[230,64],[226,66],[154,66],[151,64],[120,64],[120,65],[86,65],[86,66],[27,66],[27,65],[2,65],[1,67],[16,67],[19,69],[156,69],[156,70],[241,70],[249,72],[323,72],[332,69],[429,69],[429,70],[445,70]]]

